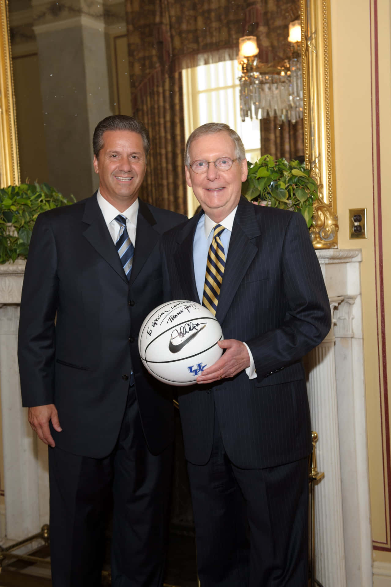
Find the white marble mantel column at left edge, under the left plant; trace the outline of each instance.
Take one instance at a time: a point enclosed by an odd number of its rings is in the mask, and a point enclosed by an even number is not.
[[[17,341],[25,261],[0,265],[0,387],[5,527],[1,538],[26,538],[49,521],[47,449],[23,410]]]

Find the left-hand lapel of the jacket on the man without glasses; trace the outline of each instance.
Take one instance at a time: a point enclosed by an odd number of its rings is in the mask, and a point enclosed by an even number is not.
[[[107,261],[107,263],[116,271],[116,273],[127,283],[123,266],[116,251],[113,239],[107,229],[105,219],[100,211],[99,204],[96,200],[96,193],[87,198],[83,222],[89,226],[83,232],[83,236],[92,245],[95,250]]]

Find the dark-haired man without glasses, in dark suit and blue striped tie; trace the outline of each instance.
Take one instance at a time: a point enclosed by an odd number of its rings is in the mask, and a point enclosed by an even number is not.
[[[163,301],[161,234],[184,217],[137,198],[149,146],[132,117],[102,120],[99,190],[39,215],[31,239],[19,370],[50,447],[55,587],[100,585],[112,495],[112,585],[163,585],[173,404],[141,366],[137,335]]]

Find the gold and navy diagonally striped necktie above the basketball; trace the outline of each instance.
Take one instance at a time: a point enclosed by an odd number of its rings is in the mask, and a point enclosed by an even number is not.
[[[213,239],[208,251],[207,269],[205,272],[205,285],[203,306],[216,315],[218,296],[220,295],[221,282],[223,281],[225,254],[220,240],[221,233],[225,230],[221,224],[216,224],[213,229]]]

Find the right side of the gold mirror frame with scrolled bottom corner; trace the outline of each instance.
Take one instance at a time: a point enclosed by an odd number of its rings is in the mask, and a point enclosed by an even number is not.
[[[332,107],[329,0],[300,0],[305,164],[319,185],[311,239],[314,248],[338,247]]]

